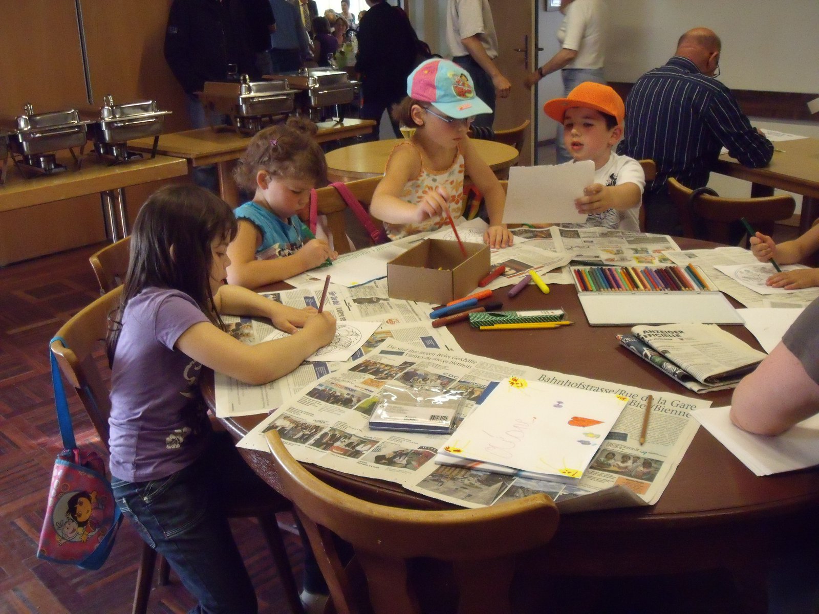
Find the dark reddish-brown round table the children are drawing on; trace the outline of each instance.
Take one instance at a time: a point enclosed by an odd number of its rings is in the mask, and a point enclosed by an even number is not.
[[[677,239],[683,249],[714,246]],[[495,291],[503,309],[563,308],[575,324],[555,330],[496,331],[491,337],[468,323],[450,331],[464,352],[510,363],[572,373],[648,390],[693,395],[645,360],[631,354],[615,338],[629,327],[590,327],[573,286],[552,285],[549,295],[530,286],[514,299]],[[734,305],[738,305],[734,303]],[[753,335],[740,326],[726,327],[759,349]],[[704,395],[714,406],[730,404],[732,391]],[[206,397],[212,391],[206,389]],[[262,416],[224,421],[234,436],[256,426]],[[270,455],[242,449],[242,455],[274,488],[278,476]],[[391,482],[305,465],[324,481],[362,499],[405,508],[452,508],[437,499],[404,490]],[[613,575],[613,562],[623,575],[699,571],[747,564],[778,554],[794,540],[810,540],[817,531],[819,472],[807,470],[758,477],[700,428],[663,496],[653,506],[609,509],[563,515],[554,540],[529,562],[548,573]]]

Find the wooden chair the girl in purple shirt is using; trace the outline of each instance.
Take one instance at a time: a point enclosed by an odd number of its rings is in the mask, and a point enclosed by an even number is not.
[[[99,363],[105,362],[104,342],[108,330],[108,316],[120,302],[122,286],[106,293],[95,300],[91,305],[82,309],[79,314],[70,318],[57,336],[66,340],[53,341],[51,351],[57,357],[60,370],[71,386],[74,386],[79,400],[91,418],[97,435],[102,443],[108,446],[108,414],[111,411],[111,401],[108,397],[106,378],[103,377],[104,368]],[[287,551],[284,548],[282,536],[278,532],[277,512],[291,509],[290,502],[279,496],[274,490],[258,493],[257,500],[247,502],[228,502],[233,508],[228,511],[229,517],[256,517],[258,518],[265,540],[273,554],[278,568],[278,576],[282,581],[287,597],[290,612],[301,614],[301,600],[299,598],[296,580]],[[164,560],[161,560],[164,563]],[[166,565],[166,564],[165,564]],[[152,577],[156,566],[156,552],[147,544],[143,544],[142,559],[137,572],[137,587],[133,595],[133,614],[147,612],[148,598],[151,593]],[[162,567],[162,566],[161,566]],[[164,576],[164,577],[163,577]],[[160,573],[160,580],[167,580],[166,573]]]

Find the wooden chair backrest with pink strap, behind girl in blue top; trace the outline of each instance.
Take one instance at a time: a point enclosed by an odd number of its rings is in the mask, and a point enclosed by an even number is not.
[[[373,200],[373,192],[381,182],[381,177],[359,179],[346,183],[353,196],[358,199],[365,210],[369,210],[369,203]],[[346,254],[351,250],[347,236],[357,247],[369,246],[369,235],[364,231],[358,219],[347,207],[346,202],[334,187],[319,187],[315,191],[320,215],[327,216],[328,231],[333,236],[333,247],[339,254]],[[381,222],[373,218],[377,226]]]

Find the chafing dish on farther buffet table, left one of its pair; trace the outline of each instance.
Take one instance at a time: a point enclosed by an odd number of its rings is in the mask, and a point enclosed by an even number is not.
[[[243,134],[256,133],[276,117],[290,113],[295,97],[285,79],[251,81],[247,74],[242,74],[239,83],[206,81],[199,95],[212,127],[218,127],[212,121],[214,115],[229,115],[233,128]]]

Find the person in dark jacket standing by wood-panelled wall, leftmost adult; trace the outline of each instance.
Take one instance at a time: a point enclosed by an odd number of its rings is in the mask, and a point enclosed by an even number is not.
[[[247,43],[247,16],[242,0],[174,0],[165,31],[165,60],[188,95],[194,128],[207,125],[196,95],[206,81],[232,73],[258,78]]]

